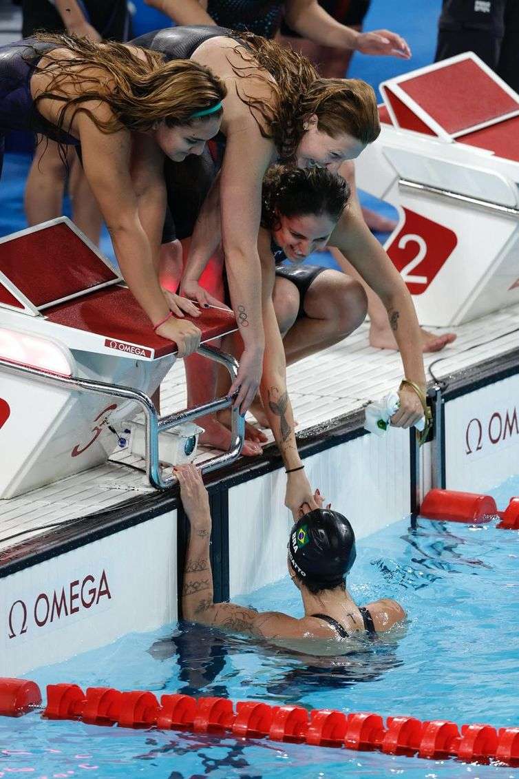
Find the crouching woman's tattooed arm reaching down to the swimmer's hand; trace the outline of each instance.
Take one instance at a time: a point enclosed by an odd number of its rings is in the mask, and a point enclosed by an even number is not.
[[[307,503],[310,509],[317,509],[318,506],[297,450],[292,404],[286,389],[285,349],[272,302],[275,264],[267,230],[260,230],[258,252],[261,259],[261,308],[265,330],[261,400],[285,469],[292,471],[287,474],[285,506],[293,513],[294,520],[297,520],[303,503]]]

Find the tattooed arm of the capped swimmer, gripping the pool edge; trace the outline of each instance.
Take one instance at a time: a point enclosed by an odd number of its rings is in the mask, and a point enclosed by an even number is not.
[[[194,465],[179,465],[174,473],[181,485],[182,504],[191,525],[182,590],[184,619],[269,640],[310,636],[304,619],[293,619],[281,612],[256,612],[254,608],[233,603],[214,603],[209,559],[212,525],[209,496]]]

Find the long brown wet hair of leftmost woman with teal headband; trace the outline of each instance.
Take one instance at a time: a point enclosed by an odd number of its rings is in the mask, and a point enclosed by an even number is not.
[[[35,72],[52,72],[47,90],[35,99],[51,98],[63,103],[58,115],[58,129],[68,129],[78,113],[86,113],[101,132],[121,129],[146,132],[156,122],[165,120],[168,126],[200,122],[193,119],[195,111],[211,108],[226,96],[226,86],[209,68],[191,60],[177,59],[165,62],[163,55],[144,51],[141,59],[123,44],[113,41],[93,43],[73,35],[40,33],[39,41],[54,44],[72,52],[72,58],[59,58],[55,50],[45,53],[50,65],[36,65]],[[75,70],[75,68],[78,70]],[[86,70],[95,67],[97,72]],[[106,79],[98,69],[106,73]],[[78,89],[77,97],[63,91],[65,84]],[[113,116],[107,121],[93,115],[84,104],[98,100],[110,107]],[[72,108],[72,115],[65,115]],[[214,114],[218,117],[219,112]]]

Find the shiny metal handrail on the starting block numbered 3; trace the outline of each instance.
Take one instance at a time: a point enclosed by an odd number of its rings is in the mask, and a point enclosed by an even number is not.
[[[236,379],[238,373],[238,363],[231,354],[226,354],[216,347],[201,346],[197,349],[197,354],[209,358],[224,365],[230,373],[231,381]],[[159,434],[166,432],[170,428],[181,425],[182,422],[193,421],[205,414],[213,414],[223,408],[232,405],[233,397],[220,397],[211,400],[202,406],[194,408],[184,408],[175,414],[167,414],[160,417],[153,405],[151,398],[140,390],[131,390],[128,387],[118,386],[117,384],[108,384],[107,382],[96,382],[92,379],[80,379],[75,376],[61,376],[55,373],[42,371],[39,368],[29,368],[26,365],[18,365],[14,362],[2,360],[0,358],[0,368],[9,373],[30,376],[37,381],[44,382],[53,386],[69,387],[70,389],[80,390],[82,392],[100,393],[113,397],[121,397],[124,400],[133,400],[142,407],[146,419],[146,474],[149,483],[157,489],[167,489],[177,482],[177,478],[172,474],[168,478],[163,478],[160,472],[159,461]],[[228,465],[240,456],[245,438],[245,420],[240,416],[238,408],[232,408],[231,411],[231,446],[223,454],[211,457],[198,466],[202,473],[215,471],[216,468]]]

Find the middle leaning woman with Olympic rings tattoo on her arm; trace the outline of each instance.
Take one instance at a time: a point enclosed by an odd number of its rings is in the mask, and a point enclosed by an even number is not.
[[[303,56],[247,33],[216,27],[177,27],[149,33],[134,43],[163,51],[168,58],[191,57],[210,67],[227,87],[220,174],[218,178],[216,173],[213,176],[216,184],[199,210],[196,225],[196,213],[191,213],[186,224],[176,222],[175,227],[178,238],[193,236],[181,291],[207,303],[210,301],[198,285],[198,277],[219,245],[221,217],[230,297],[244,340],[240,375],[232,389],[241,383],[238,403],[244,413],[259,385],[264,349],[257,241],[265,171],[275,158],[291,161],[297,167],[326,167],[332,173],[341,166],[344,169],[345,160],[358,157],[379,135],[375,95],[370,86],[356,79],[321,79]],[[170,166],[170,173],[182,171],[182,167]],[[178,203],[182,187],[175,190],[169,184],[168,202],[176,217],[175,195]],[[205,195],[202,189],[201,203]],[[217,189],[219,197],[214,197]],[[353,203],[338,221],[334,245],[384,302],[401,351],[405,378],[425,390],[422,343],[411,296]],[[213,287],[209,291],[219,291],[219,299],[223,299],[221,284],[219,290]],[[212,397],[214,383],[205,366],[198,358],[191,358],[186,367],[191,404]],[[422,404],[409,386],[400,390],[400,404],[393,424],[409,427],[412,418],[423,413]],[[219,421],[209,419],[202,425],[205,442],[223,448],[229,445],[229,431]]]

